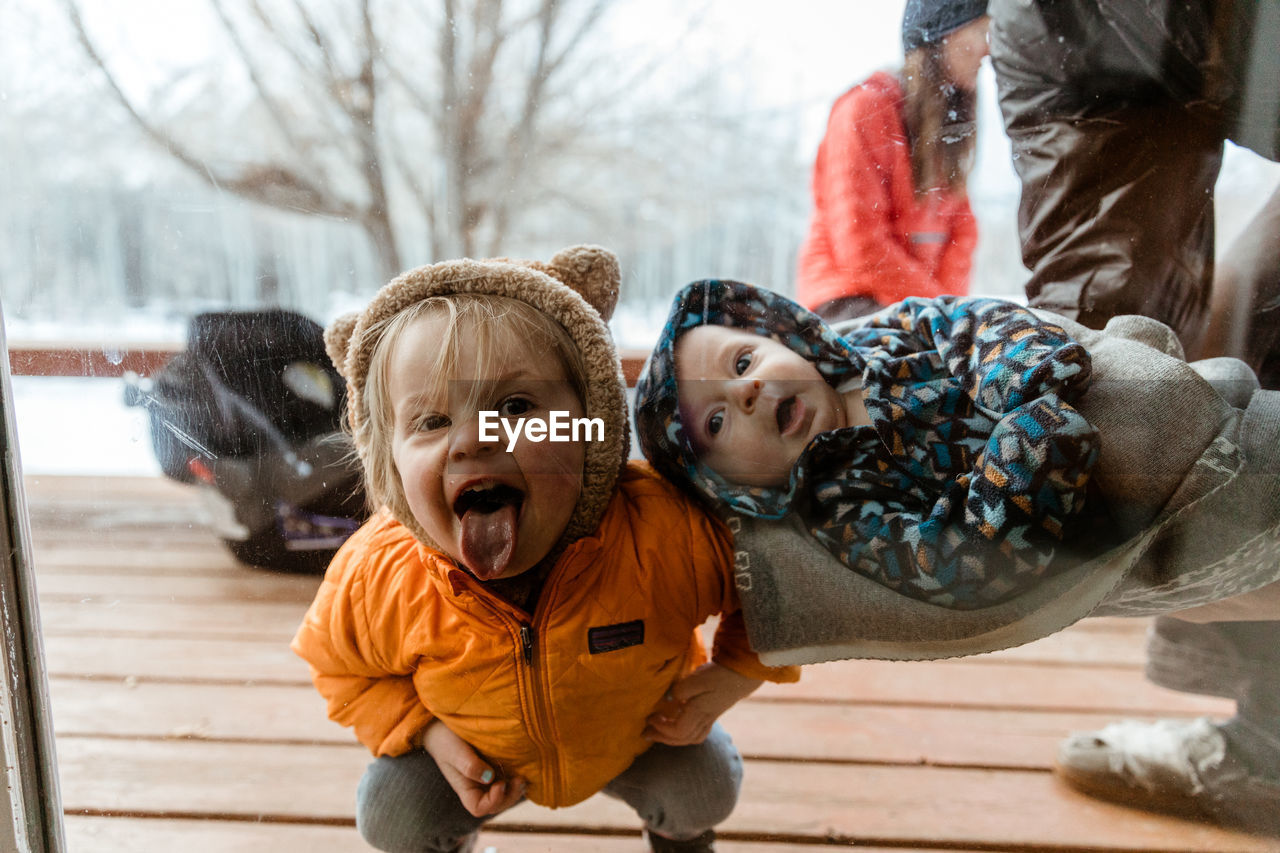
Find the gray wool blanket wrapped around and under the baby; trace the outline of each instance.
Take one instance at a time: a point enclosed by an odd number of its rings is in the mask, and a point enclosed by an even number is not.
[[[1102,435],[1094,476],[1123,543],[1018,598],[957,611],[850,571],[800,519],[732,515],[739,596],[765,663],[979,654],[1091,615],[1174,612],[1280,580],[1280,392],[1258,391],[1234,359],[1188,364],[1147,318],[1098,332],[1046,316],[1093,359],[1078,409]]]

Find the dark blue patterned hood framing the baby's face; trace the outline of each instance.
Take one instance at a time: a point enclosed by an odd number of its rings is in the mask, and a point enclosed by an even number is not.
[[[727,325],[773,338],[813,362],[833,388],[860,377],[865,360],[822,318],[780,293],[741,282],[704,279],[676,295],[636,383],[640,450],[663,476],[714,507],[727,506],[764,519],[781,517],[796,492],[795,470],[786,488],[730,483],[698,461],[680,423],[676,342],[699,325]]]

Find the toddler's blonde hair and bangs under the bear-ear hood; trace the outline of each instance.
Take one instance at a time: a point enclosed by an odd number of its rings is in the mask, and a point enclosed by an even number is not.
[[[445,318],[440,347],[431,362],[431,393],[444,391],[454,379],[480,379],[471,384],[467,409],[475,409],[486,394],[485,379],[493,378],[493,350],[503,338],[516,337],[531,342],[532,351],[549,351],[557,357],[579,402],[586,400],[586,364],[568,332],[547,314],[521,300],[488,293],[453,293],[433,296],[383,320],[371,333],[378,334],[369,361],[365,384],[367,418],[367,456],[365,487],[374,508],[388,506],[397,517],[411,514],[392,457],[394,414],[388,393],[390,353],[404,330],[424,316]],[[475,377],[458,377],[460,348],[463,336],[475,343]]]

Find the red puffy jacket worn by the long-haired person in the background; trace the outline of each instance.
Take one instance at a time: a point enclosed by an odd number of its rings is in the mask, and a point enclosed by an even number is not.
[[[815,309],[842,296],[891,305],[964,295],[977,243],[966,197],[915,193],[897,79],[877,72],[841,95],[813,165],[796,301]]]

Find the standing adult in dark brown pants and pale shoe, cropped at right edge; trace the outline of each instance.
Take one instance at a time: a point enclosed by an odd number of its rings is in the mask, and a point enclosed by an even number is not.
[[[1144,314],[1193,357],[1238,355],[1277,387],[1280,196],[1217,277],[1213,245],[1224,141],[1280,156],[1277,44],[1274,1],[991,1],[1032,305],[1096,328]],[[1106,799],[1280,831],[1280,607],[1199,611],[1156,620],[1147,676],[1235,699],[1235,716],[1080,733],[1059,771]]]

